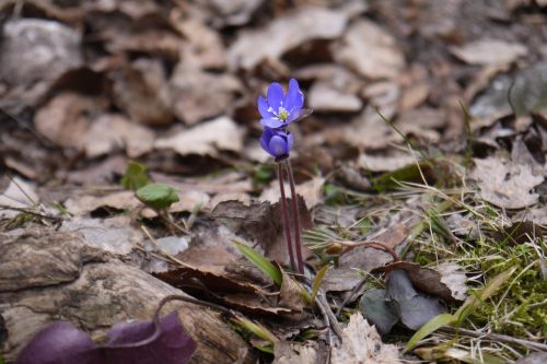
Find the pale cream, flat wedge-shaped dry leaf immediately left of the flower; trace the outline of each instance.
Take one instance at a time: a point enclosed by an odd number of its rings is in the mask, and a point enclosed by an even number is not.
[[[181,155],[218,155],[219,151],[241,152],[244,131],[229,117],[202,122],[190,129],[155,141],[156,149],[171,149]]]

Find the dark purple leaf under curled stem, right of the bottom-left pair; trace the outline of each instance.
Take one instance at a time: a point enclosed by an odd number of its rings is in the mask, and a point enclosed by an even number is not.
[[[160,334],[153,339],[151,320],[118,324],[108,332],[103,349],[112,364],[185,364],[196,351],[196,343],[185,332],[178,314],[172,312],[160,320]],[[139,343],[152,338],[150,342]],[[124,348],[125,347],[125,348]]]

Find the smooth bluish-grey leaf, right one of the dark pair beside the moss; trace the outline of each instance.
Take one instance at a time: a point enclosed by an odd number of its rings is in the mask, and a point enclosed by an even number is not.
[[[431,318],[446,312],[439,298],[418,293],[407,272],[399,269],[388,275],[386,300],[391,301],[400,321],[411,330],[418,330]]]

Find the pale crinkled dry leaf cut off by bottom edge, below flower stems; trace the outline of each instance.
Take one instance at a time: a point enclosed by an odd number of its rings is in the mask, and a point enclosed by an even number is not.
[[[393,344],[384,344],[376,328],[360,313],[351,315],[342,330],[342,343],[333,348],[333,364],[397,364],[399,352]]]

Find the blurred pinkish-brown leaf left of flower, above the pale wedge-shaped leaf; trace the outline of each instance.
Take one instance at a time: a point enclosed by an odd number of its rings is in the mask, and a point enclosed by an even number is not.
[[[170,87],[175,115],[189,125],[229,111],[242,89],[231,74],[205,72],[185,62],[175,68]]]

